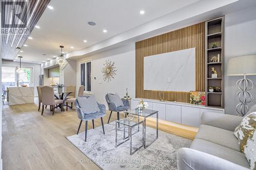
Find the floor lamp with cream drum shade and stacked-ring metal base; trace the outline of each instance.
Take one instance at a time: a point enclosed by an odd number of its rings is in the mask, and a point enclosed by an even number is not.
[[[254,85],[250,79],[246,78],[248,75],[256,75],[256,55],[229,58],[227,76],[243,76],[236,83],[239,89],[236,99],[240,102],[236,106],[236,110],[241,116],[247,113],[250,107],[249,103],[254,99],[250,92]]]

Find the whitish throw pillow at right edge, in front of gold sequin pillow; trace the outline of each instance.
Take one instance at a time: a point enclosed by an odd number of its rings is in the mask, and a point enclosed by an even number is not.
[[[256,131],[248,138],[244,154],[250,164],[250,169],[256,169]]]

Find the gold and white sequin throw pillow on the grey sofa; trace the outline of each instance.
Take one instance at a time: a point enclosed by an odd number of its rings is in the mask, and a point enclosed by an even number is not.
[[[254,133],[256,128],[256,112],[245,116],[240,125],[234,130],[234,136],[238,138],[238,144],[242,153],[247,143],[247,139]]]

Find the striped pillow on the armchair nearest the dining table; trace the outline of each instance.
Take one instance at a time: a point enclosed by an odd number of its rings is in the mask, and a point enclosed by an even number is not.
[[[89,98],[78,97],[76,100],[84,114],[100,112],[94,95],[90,96]]]

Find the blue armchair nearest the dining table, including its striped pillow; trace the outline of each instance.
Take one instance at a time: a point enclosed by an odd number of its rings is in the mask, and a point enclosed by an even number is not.
[[[86,102],[81,102],[79,103],[78,100],[82,100],[82,98],[84,98],[84,101]],[[103,123],[103,116],[106,115],[106,107],[103,104],[99,104],[96,102],[95,99],[90,99],[87,100],[88,98],[91,98],[91,96],[89,95],[83,95],[80,98],[78,98],[78,100],[75,101],[75,106],[76,106],[76,112],[77,112],[77,117],[80,119],[80,124],[77,130],[77,134],[79,133],[79,129],[81,127],[82,121],[86,122],[86,134],[85,134],[85,141],[87,141],[87,130],[88,130],[88,120],[92,120],[93,123],[93,129],[94,129],[94,119],[96,118],[100,118],[101,119],[101,125],[102,125],[102,129],[103,129],[103,134],[105,134],[104,131],[104,123]],[[95,101],[93,101],[95,100]],[[98,105],[98,107],[96,107],[94,104],[90,104],[91,103],[95,103]],[[79,104],[83,105],[83,106],[79,106]],[[84,107],[84,105],[90,105],[90,109],[88,109],[88,107]],[[96,112],[95,112],[96,111]]]

